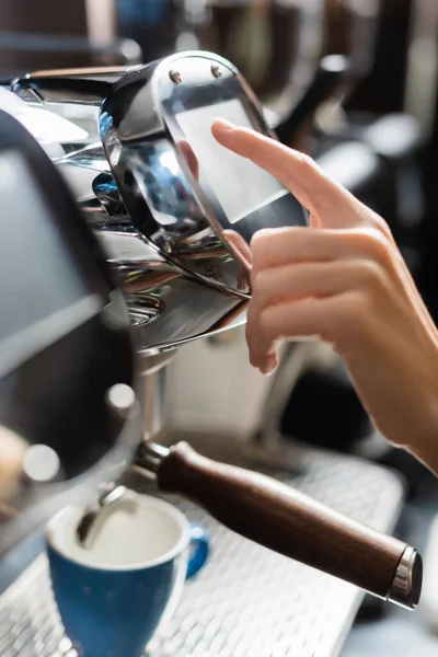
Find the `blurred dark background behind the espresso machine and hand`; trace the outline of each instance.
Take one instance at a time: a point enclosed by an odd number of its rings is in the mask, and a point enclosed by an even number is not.
[[[38,0],[36,11],[33,0],[1,0],[5,82],[43,68],[130,66],[198,48],[231,60],[281,140],[389,221],[438,321],[438,2]],[[279,372],[265,379],[249,366],[237,330],[181,349],[170,380],[168,420],[178,430],[214,426],[261,443],[290,437],[396,469],[408,493],[400,531],[427,544],[436,483],[376,434],[328,347],[289,345]],[[390,646],[399,657],[438,654],[420,624],[388,613],[366,606],[345,655],[388,656]]]

